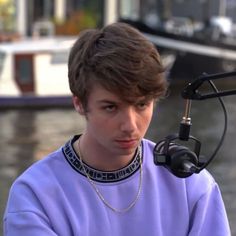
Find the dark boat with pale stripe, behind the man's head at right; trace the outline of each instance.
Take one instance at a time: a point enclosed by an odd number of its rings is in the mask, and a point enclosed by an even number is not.
[[[203,73],[236,70],[236,31],[227,17],[212,17],[207,23],[171,17],[156,26],[139,19],[119,21],[139,29],[161,55],[174,56],[170,80],[193,80]]]

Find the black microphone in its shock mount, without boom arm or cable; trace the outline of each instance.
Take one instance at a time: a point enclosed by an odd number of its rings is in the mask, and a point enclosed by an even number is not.
[[[194,173],[199,173],[204,163],[200,162],[199,154],[201,142],[189,135],[191,118],[189,117],[191,101],[186,101],[185,114],[180,123],[179,133],[171,134],[158,142],[153,150],[154,163],[164,166],[172,174],[179,178],[186,178]],[[194,142],[194,151],[186,146],[180,145],[175,140]]]

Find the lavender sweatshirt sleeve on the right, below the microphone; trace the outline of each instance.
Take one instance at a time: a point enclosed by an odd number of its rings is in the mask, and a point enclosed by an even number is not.
[[[219,187],[212,184],[195,204],[189,236],[230,236],[230,228]]]

